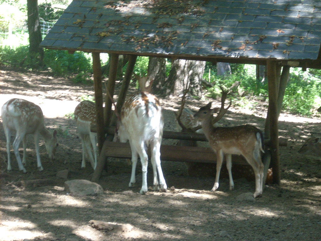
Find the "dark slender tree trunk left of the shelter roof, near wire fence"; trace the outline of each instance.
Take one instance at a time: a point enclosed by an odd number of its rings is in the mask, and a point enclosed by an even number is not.
[[[43,61],[43,49],[39,48],[41,42],[41,32],[39,23],[39,11],[37,0],[27,0],[28,31],[29,31],[29,52],[30,54],[39,53],[40,64]]]

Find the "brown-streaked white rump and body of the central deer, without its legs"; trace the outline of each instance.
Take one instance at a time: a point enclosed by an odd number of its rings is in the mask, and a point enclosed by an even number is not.
[[[163,116],[156,96],[146,92],[132,95],[123,105],[118,136],[121,142],[127,139],[161,138]]]

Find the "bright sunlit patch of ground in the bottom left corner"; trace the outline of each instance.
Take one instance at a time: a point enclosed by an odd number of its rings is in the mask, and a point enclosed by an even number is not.
[[[33,223],[22,220],[2,221],[0,223],[1,241],[33,239],[42,235],[41,232],[35,231],[35,228]]]

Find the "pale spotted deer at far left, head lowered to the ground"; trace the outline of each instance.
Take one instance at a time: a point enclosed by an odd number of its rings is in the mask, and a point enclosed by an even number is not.
[[[26,165],[26,135],[33,134],[35,150],[37,156],[37,167],[39,171],[43,171],[43,167],[39,154],[39,136],[42,136],[45,141],[45,147],[50,160],[54,159],[56,148],[58,147],[56,129],[51,134],[44,124],[44,116],[41,108],[27,100],[13,98],[8,100],[1,108],[2,123],[4,126],[4,134],[6,137],[6,149],[8,155],[7,170],[11,171],[10,158],[10,139],[12,132],[15,132],[13,141],[13,151],[16,156],[20,171],[26,173],[24,165]],[[19,154],[19,145],[22,141],[23,157]]]

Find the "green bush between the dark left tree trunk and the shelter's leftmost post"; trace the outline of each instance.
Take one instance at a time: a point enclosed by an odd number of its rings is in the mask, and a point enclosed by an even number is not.
[[[65,50],[47,49],[44,62],[53,73],[61,76],[69,73],[92,73],[91,58],[80,51],[69,54]],[[82,79],[84,75],[80,75],[79,79]]]

